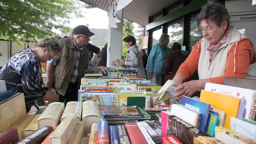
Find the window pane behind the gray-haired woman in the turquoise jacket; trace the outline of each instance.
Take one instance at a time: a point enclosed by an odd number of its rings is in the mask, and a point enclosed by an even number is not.
[[[170,42],[167,47],[171,47],[174,42],[182,45],[183,18],[168,24],[167,34],[170,36]]]

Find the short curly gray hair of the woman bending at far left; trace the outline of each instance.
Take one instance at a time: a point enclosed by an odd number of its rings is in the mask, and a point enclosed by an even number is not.
[[[41,48],[47,48],[47,50],[52,53],[56,53],[56,57],[59,58],[61,56],[61,47],[60,47],[60,41],[57,40],[55,37],[51,36],[45,36],[41,41],[39,41],[36,44],[36,47],[41,47]]]

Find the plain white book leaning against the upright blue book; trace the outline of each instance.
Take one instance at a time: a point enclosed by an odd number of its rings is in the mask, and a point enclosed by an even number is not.
[[[198,112],[178,104],[172,104],[171,114],[177,116],[194,127],[196,127],[198,116],[200,116]]]

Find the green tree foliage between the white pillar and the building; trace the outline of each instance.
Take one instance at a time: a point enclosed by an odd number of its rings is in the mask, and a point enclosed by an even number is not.
[[[132,23],[124,23],[123,22],[123,38],[128,35],[134,35],[133,33],[134,26]],[[122,38],[122,39],[123,39]],[[126,55],[127,55],[127,47],[124,45],[124,42],[122,42],[122,60],[125,61]]]

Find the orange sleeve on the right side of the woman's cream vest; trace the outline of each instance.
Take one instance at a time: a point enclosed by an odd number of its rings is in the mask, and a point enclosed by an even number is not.
[[[238,41],[235,54],[235,73],[234,73],[234,43],[228,52],[226,69],[224,75],[209,78],[211,83],[223,84],[224,77],[245,78],[249,65],[254,63],[254,52],[249,38],[242,38]]]

